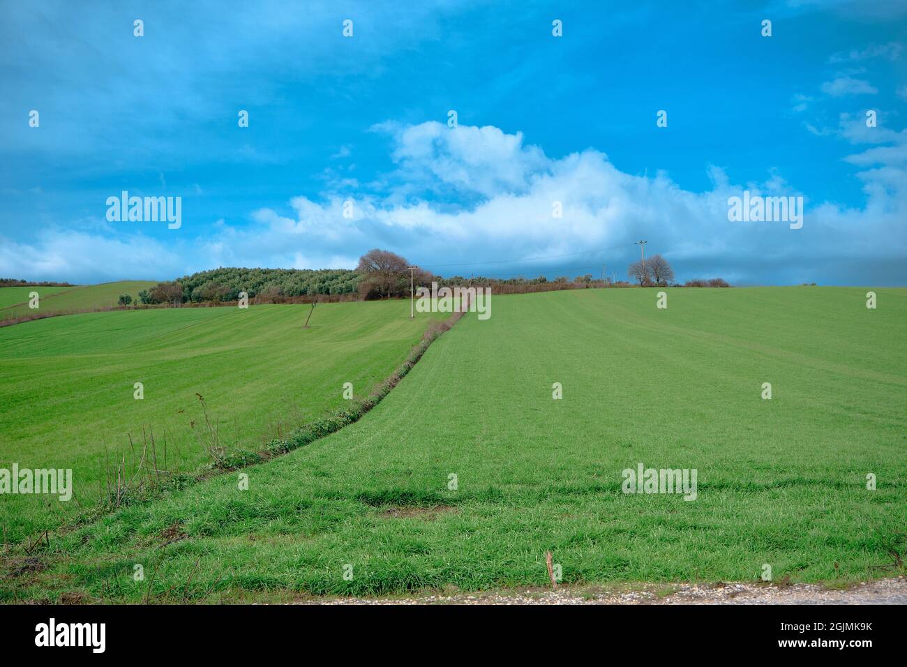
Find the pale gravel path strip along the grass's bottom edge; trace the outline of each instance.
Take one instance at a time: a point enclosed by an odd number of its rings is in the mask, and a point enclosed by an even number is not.
[[[310,598],[300,604],[907,604],[907,577],[847,589],[817,584],[637,584],[515,588],[412,597]]]

